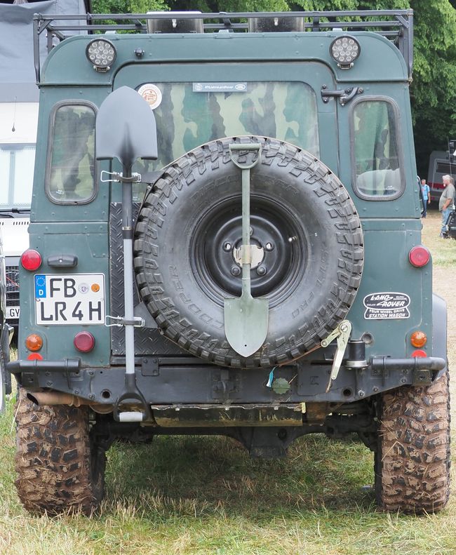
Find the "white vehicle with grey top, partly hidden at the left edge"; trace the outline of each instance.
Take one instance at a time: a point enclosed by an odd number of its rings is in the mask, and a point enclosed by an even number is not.
[[[34,13],[90,11],[90,0],[0,0],[0,228],[6,262],[6,319],[18,327],[20,255],[29,246],[39,90],[34,71]],[[77,21],[76,21],[77,23]],[[77,31],[78,34],[85,31]],[[71,32],[70,32],[71,34]],[[73,32],[74,34],[74,32]],[[36,55],[45,56],[41,41]]]

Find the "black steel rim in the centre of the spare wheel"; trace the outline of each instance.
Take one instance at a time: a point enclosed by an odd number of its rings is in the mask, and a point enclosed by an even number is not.
[[[250,287],[253,297],[268,295],[272,300],[297,272],[306,250],[305,241],[298,237],[302,239],[276,202],[272,199],[252,202]],[[236,197],[203,215],[192,241],[195,274],[214,299],[241,295],[241,246],[241,199]]]

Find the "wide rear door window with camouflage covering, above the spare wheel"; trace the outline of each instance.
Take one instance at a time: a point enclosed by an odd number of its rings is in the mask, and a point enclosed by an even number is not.
[[[139,173],[162,168],[205,142],[236,135],[274,137],[320,155],[316,96],[306,83],[154,83],[149,87],[159,159],[136,163],[134,170]],[[138,91],[142,88],[147,89],[147,83]]]

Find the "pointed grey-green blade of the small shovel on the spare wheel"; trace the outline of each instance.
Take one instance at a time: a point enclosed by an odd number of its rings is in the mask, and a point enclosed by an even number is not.
[[[243,293],[224,300],[224,332],[229,345],[241,356],[250,356],[267,336],[269,300]]]

